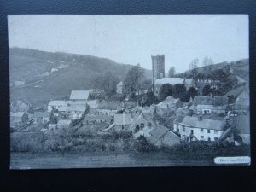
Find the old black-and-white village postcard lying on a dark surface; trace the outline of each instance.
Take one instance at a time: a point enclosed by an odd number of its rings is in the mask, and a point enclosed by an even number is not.
[[[250,165],[248,15],[9,15],[10,168]]]

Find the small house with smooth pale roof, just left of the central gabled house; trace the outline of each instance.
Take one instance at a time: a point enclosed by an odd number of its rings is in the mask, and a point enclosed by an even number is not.
[[[115,131],[127,131],[131,126],[131,113],[114,114],[113,129]]]

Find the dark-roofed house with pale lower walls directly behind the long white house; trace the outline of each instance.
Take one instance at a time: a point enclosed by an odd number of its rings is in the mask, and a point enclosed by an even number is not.
[[[197,114],[226,113],[227,96],[195,96],[194,110]]]

